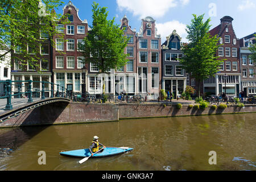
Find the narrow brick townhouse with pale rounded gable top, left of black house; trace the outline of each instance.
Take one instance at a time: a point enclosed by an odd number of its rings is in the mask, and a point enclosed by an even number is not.
[[[162,88],[161,37],[150,16],[142,19],[136,42],[138,93],[157,99]]]

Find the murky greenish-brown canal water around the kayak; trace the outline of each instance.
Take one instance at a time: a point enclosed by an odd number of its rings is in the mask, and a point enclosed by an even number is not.
[[[256,170],[255,118],[225,114],[0,129],[0,170]],[[107,147],[134,150],[83,164],[59,155],[88,148],[94,135]],[[39,165],[39,151],[46,152],[46,165]],[[209,164],[210,151],[216,164]]]

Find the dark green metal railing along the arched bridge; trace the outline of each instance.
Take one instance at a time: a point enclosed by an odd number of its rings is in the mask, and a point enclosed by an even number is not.
[[[28,86],[24,86],[24,83],[27,83]],[[39,84],[42,84],[42,90],[38,90],[35,88],[32,88],[32,83],[36,82]],[[59,84],[54,84],[53,82],[48,82],[48,81],[32,81],[32,80],[1,80],[0,84],[3,84],[3,93],[4,96],[0,97],[0,99],[6,98],[6,106],[5,106],[5,110],[11,110],[13,109],[13,105],[11,104],[11,98],[12,97],[17,97],[17,98],[22,98],[22,96],[24,95],[25,98],[28,98],[28,103],[33,102],[33,98],[32,98],[32,94],[35,93],[36,96],[40,97],[41,94],[41,100],[46,99],[45,93],[46,92],[51,92],[51,97],[50,98],[54,98],[54,97],[71,97],[70,96],[70,91],[67,88],[64,88],[64,86],[60,86]],[[50,90],[46,90],[45,89],[45,84],[51,84],[51,89]],[[12,86],[17,86],[18,87],[18,92],[14,92],[11,90]],[[57,86],[57,90],[54,90],[54,86]],[[21,92],[20,90],[22,89],[22,87],[24,87],[25,89],[27,89],[25,92]],[[60,90],[61,89],[61,90]]]

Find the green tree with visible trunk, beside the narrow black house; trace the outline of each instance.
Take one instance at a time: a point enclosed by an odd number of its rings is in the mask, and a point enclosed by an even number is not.
[[[223,60],[218,60],[216,51],[218,49],[217,35],[210,36],[210,18],[203,21],[204,14],[196,16],[193,14],[191,25],[187,25],[188,44],[183,47],[184,57],[180,59],[181,65],[186,72],[191,73],[199,83],[198,93],[200,96],[201,81],[213,76],[218,72]]]

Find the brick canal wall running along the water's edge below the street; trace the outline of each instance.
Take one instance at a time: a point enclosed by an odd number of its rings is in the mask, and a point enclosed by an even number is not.
[[[183,115],[229,114],[256,112],[256,105],[238,107],[229,105],[226,109],[189,108],[176,104],[87,104],[71,102],[52,103],[19,114],[0,123],[0,127],[52,125],[64,123],[87,123],[119,121],[128,118],[174,117]]]

